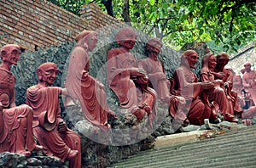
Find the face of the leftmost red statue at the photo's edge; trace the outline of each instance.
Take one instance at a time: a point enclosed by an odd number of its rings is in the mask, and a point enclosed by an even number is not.
[[[9,64],[17,64],[20,59],[20,48],[15,46],[9,47],[9,50],[6,53],[3,53],[3,61],[8,62]]]

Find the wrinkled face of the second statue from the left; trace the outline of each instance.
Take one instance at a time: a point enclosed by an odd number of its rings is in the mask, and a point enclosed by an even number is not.
[[[53,85],[58,73],[59,70],[54,66],[44,68],[41,73],[42,81],[45,81],[48,85]]]

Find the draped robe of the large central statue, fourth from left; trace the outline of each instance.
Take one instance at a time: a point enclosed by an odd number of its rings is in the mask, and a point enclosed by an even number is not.
[[[119,105],[130,111],[147,104],[156,115],[154,89],[148,87],[147,76],[131,76],[132,68],[138,68],[137,59],[120,48],[108,51],[108,85],[119,98]]]

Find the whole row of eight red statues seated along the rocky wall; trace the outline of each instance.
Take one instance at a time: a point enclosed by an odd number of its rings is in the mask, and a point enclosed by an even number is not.
[[[43,150],[44,154],[61,161],[70,160],[70,167],[81,167],[81,140],[61,118],[60,94],[69,101],[78,100],[85,119],[94,126],[103,131],[111,128],[108,119],[117,115],[108,107],[105,87],[89,73],[88,52],[96,48],[97,33],[82,31],[75,39],[77,44],[70,56],[66,88],[51,87],[59,71],[56,64],[41,64],[37,70],[38,84],[27,89],[26,104],[20,106],[15,106],[15,76],[10,72],[11,66],[20,59],[20,47],[9,44],[1,49],[0,152],[29,156],[33,149]],[[227,53],[219,53],[217,57],[207,53],[199,80],[191,70],[195,69],[199,56],[194,50],[185,51],[171,83],[158,59],[163,46],[160,39],[148,40],[148,58],[141,60],[130,52],[137,40],[135,31],[123,28],[115,39],[119,48],[108,51],[108,87],[119,99],[119,106],[137,116],[138,122],[144,115],[154,120],[157,100],[168,104],[173,119],[182,122],[199,126],[205,119],[217,122],[218,110],[224,120],[237,121],[234,111],[242,113],[242,109],[232,90],[232,73],[224,68],[229,60]],[[175,91],[171,92],[171,87]]]

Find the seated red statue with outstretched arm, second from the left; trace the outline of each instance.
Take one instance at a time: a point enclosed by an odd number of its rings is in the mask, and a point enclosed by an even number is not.
[[[59,95],[67,89],[51,87],[58,73],[56,64],[44,63],[38,67],[38,84],[26,90],[26,104],[34,110],[33,133],[44,147],[44,154],[55,156],[69,167],[81,167],[81,140],[61,118]]]

